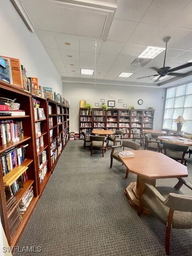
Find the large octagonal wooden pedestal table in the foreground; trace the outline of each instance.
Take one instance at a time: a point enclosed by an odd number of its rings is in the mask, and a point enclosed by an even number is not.
[[[132,206],[139,206],[144,182],[155,186],[156,179],[187,177],[187,167],[162,153],[150,150],[134,150],[135,157],[121,158],[127,172],[137,175],[137,182],[131,182],[125,190]],[[144,212],[149,213],[144,207]]]

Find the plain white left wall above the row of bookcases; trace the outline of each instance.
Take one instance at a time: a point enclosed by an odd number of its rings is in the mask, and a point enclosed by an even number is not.
[[[10,0],[0,0],[0,55],[20,59],[28,76],[62,94],[61,77],[38,36],[31,33]]]

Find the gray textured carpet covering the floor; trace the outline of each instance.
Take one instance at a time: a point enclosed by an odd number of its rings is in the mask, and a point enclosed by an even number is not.
[[[37,253],[14,256],[164,256],[165,226],[153,216],[138,217],[124,189],[125,167],[110,151],[90,156],[83,141],[69,141],[32,214],[18,246],[41,246]],[[150,160],[149,160],[150,161]],[[188,161],[192,183],[192,158]],[[158,180],[157,186],[174,186],[176,179]],[[188,188],[182,187],[187,194]],[[192,255],[192,230],[172,230],[173,256]]]

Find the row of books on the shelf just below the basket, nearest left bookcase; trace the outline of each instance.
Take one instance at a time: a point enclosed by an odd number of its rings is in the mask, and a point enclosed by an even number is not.
[[[16,142],[23,136],[22,121],[14,122],[13,120],[0,121],[0,145],[9,142]]]

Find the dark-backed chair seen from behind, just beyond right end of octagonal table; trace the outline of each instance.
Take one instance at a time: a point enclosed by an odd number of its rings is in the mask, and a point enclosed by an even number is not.
[[[189,158],[187,152],[189,150],[189,146],[163,141],[163,148],[166,156],[187,165],[187,159]]]

